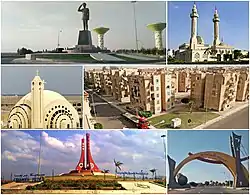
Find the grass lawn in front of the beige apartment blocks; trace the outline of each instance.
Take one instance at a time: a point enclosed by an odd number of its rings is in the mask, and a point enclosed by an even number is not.
[[[205,121],[209,121],[218,117],[219,114],[212,113],[212,112],[199,112],[194,111],[191,114],[187,111],[175,111],[168,114],[164,114],[161,116],[153,117],[149,119],[151,125],[159,123],[162,120],[165,120],[165,123],[156,125],[156,128],[165,129],[170,128],[171,120],[173,118],[180,118],[181,119],[181,129],[192,129],[205,123]],[[191,123],[188,124],[188,119],[191,119]]]

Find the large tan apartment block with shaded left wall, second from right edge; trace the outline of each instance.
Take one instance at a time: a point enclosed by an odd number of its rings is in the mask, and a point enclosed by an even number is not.
[[[234,72],[207,74],[204,107],[222,111],[234,105],[239,76]]]

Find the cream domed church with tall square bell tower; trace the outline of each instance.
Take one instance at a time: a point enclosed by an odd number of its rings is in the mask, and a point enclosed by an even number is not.
[[[44,90],[44,81],[37,75],[31,92],[11,109],[8,128],[12,129],[76,129],[79,114],[74,106],[57,92]]]

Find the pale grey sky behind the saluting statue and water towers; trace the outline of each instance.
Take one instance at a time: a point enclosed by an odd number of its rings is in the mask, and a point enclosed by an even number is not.
[[[32,50],[54,49],[59,30],[60,45],[77,44],[78,31],[82,29],[80,1],[10,1],[2,2],[2,52],[16,52],[17,48]],[[91,1],[89,29],[104,26],[110,28],[105,35],[109,49],[136,48],[133,5],[131,1]],[[164,1],[140,1],[136,3],[136,21],[139,48],[153,48],[154,34],[147,25],[166,22]],[[11,10],[11,11],[10,11]],[[166,45],[166,30],[163,43]],[[92,32],[92,42],[97,45],[97,34]]]

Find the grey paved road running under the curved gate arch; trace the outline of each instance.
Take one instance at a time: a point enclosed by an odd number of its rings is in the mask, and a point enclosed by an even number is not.
[[[185,191],[170,190],[168,194],[248,194],[249,190],[223,187],[197,187]]]

